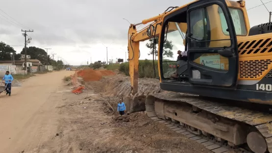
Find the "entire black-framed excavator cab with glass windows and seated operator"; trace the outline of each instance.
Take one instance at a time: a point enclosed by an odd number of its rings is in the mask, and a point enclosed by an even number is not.
[[[161,87],[168,88],[169,83],[175,83],[236,88],[236,35],[247,35],[243,18],[243,12],[239,8],[228,8],[225,0],[200,0],[165,15],[158,60],[161,82],[167,84]],[[233,21],[239,27],[234,26]],[[154,26],[150,25],[148,31],[152,36]],[[167,58],[165,51],[169,45],[173,45],[173,53],[187,51],[188,60]],[[175,69],[167,66],[173,64]],[[174,72],[178,79],[173,81],[169,76]]]

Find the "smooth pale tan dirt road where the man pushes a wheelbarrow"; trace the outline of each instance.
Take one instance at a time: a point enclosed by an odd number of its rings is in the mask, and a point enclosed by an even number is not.
[[[54,108],[63,102],[62,78],[71,73],[37,75],[22,87],[13,87],[11,97],[0,95],[0,153],[32,153],[56,134],[58,114]]]

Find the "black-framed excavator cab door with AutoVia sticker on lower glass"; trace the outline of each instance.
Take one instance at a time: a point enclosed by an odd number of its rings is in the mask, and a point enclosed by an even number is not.
[[[189,82],[236,88],[238,47],[225,0],[199,0],[188,5]]]

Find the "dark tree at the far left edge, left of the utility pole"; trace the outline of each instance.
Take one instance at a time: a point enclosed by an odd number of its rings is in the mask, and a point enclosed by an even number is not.
[[[11,60],[10,53],[14,55],[15,60],[19,60],[21,57],[20,54],[16,54],[16,51],[11,46],[0,42],[0,60]]]

